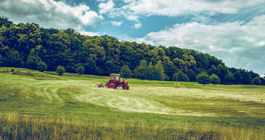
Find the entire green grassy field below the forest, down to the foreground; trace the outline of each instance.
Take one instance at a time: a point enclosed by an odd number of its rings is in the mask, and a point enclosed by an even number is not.
[[[0,139],[265,138],[265,86],[107,81],[0,68]]]

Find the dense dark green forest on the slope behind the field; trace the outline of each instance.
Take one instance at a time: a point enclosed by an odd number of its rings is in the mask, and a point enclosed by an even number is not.
[[[36,23],[14,24],[0,17],[0,67],[43,72],[56,71],[58,66],[72,73],[82,68],[89,75],[120,73],[127,68],[140,80],[175,81],[178,73],[178,81],[195,82],[197,75],[206,73],[217,75],[220,84],[252,84],[256,77],[265,84],[259,74],[229,68],[221,59],[197,50],[81,35],[75,29],[47,29]]]

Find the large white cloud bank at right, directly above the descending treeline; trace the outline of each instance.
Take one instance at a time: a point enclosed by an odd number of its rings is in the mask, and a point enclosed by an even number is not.
[[[252,20],[206,25],[203,23],[175,24],[142,38],[124,40],[148,44],[192,48],[224,60],[227,66],[265,72],[265,15]]]

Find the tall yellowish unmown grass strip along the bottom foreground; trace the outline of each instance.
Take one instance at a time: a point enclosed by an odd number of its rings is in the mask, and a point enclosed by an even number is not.
[[[9,114],[0,117],[2,139],[264,139],[264,130],[145,121],[100,122],[86,118],[34,117]]]

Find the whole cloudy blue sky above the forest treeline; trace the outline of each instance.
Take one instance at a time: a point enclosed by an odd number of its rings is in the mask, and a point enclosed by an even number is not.
[[[209,53],[265,73],[265,0],[0,0],[14,23]]]

